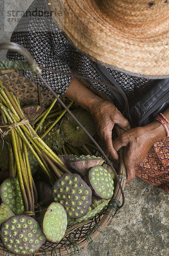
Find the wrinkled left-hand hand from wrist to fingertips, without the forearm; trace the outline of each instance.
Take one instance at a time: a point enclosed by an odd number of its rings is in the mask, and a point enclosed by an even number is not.
[[[96,123],[98,134],[104,141],[107,154],[113,159],[118,160],[118,153],[113,147],[112,129],[114,124],[118,124],[119,127],[127,131],[127,129],[130,129],[128,120],[122,116],[121,112],[118,111],[112,102],[101,98],[95,99],[88,107],[88,110]]]

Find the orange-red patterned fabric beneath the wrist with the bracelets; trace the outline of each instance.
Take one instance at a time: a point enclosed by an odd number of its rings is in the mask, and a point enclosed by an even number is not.
[[[169,138],[160,140],[150,148],[144,161],[136,168],[136,175],[169,192]]]

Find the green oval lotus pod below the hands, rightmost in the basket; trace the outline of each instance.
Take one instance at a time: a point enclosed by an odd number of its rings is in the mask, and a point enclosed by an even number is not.
[[[95,195],[106,200],[112,198],[114,181],[105,168],[102,166],[92,167],[88,172],[88,181]]]

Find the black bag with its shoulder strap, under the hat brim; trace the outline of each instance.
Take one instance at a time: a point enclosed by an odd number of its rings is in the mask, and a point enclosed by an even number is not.
[[[127,101],[126,115],[132,127],[149,124],[159,113],[169,108],[169,79],[153,81],[151,88],[144,95],[134,99],[129,104],[124,91],[107,69],[96,64],[96,70],[101,79],[110,84],[109,89],[118,100],[121,108],[124,108]],[[114,87],[116,90],[113,89]]]

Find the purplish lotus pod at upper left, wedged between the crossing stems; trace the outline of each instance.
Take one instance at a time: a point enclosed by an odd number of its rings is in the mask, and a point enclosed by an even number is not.
[[[32,105],[22,108],[24,115],[28,118],[29,123],[34,126],[34,121],[45,111],[45,108],[39,105]]]

